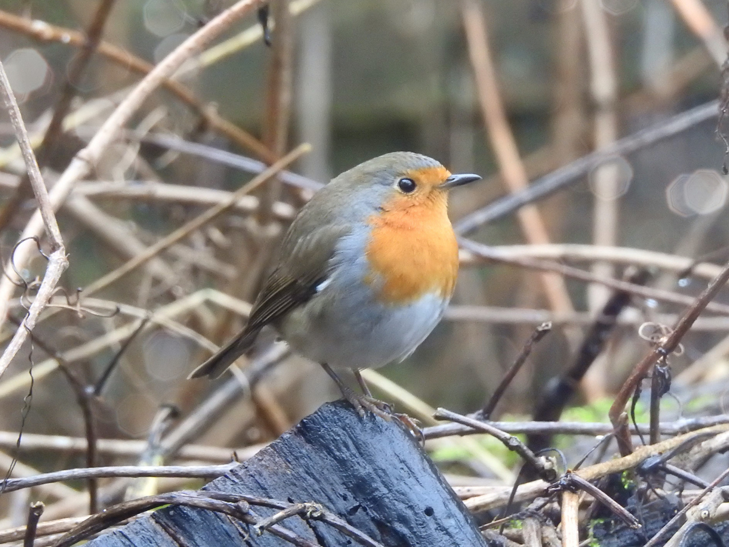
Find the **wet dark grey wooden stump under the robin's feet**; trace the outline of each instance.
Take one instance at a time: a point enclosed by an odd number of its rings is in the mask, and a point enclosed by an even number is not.
[[[402,424],[371,415],[362,419],[342,402],[325,404],[203,490],[320,503],[387,547],[487,545],[463,503]],[[260,516],[276,512],[254,509]],[[321,521],[295,516],[280,524],[324,547],[356,545]],[[284,547],[291,543],[270,532],[244,538],[225,515],[169,506],[88,545]]]

